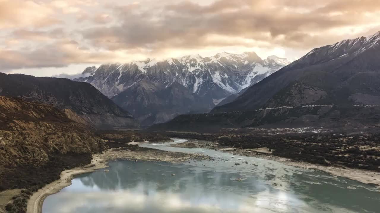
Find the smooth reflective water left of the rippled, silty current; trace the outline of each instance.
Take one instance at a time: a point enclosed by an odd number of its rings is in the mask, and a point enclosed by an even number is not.
[[[236,170],[214,172],[197,168],[184,164],[112,162],[109,172],[79,175],[71,186],[47,197],[43,213],[352,212],[294,194],[289,187],[275,189],[252,175],[235,181],[241,175]]]

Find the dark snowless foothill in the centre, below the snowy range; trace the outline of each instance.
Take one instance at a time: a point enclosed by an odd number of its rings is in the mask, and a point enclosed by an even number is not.
[[[133,113],[141,125],[165,122],[184,113],[208,112],[214,106],[178,82],[165,86],[147,80],[135,83],[112,100]]]

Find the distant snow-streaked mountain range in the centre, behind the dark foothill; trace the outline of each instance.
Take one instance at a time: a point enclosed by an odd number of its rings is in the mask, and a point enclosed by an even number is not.
[[[191,93],[201,97],[203,99],[201,103],[207,103],[207,107],[210,107],[209,102],[204,100],[212,100],[213,104],[217,105],[227,96],[236,94],[242,89],[263,80],[263,78],[289,63],[290,61],[286,58],[277,56],[269,56],[262,60],[254,52],[242,54],[222,52],[204,58],[200,55],[187,55],[162,61],[147,59],[146,61],[133,61],[125,64],[103,64],[98,68],[87,67],[83,74],[87,74],[88,77],[74,80],[91,83],[108,97],[115,97],[142,80],[159,83],[163,86],[177,82]],[[135,91],[148,88],[146,83],[143,85],[139,85],[138,88],[141,89]],[[158,86],[157,88],[161,87]],[[146,94],[146,92],[142,92],[139,97],[143,97],[143,93]],[[174,94],[177,93],[174,92]],[[134,100],[134,102],[141,100],[141,102],[145,102],[141,103],[144,105],[146,102],[150,102],[145,98],[144,100],[135,98],[128,96],[122,102],[118,96],[117,100],[120,102],[119,105],[124,106],[130,106],[125,103],[127,99]],[[138,104],[133,106],[136,107]],[[197,108],[204,107],[198,106]],[[131,108],[128,110],[136,111]],[[171,110],[171,114],[176,114],[173,111],[175,110]]]

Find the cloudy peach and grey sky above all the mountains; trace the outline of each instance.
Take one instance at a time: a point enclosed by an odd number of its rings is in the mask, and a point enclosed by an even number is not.
[[[296,60],[380,30],[379,0],[0,0],[0,72],[218,52]]]

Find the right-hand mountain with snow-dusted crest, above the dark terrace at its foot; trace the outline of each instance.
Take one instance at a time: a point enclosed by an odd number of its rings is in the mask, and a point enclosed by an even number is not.
[[[379,58],[380,31],[314,48],[213,112],[299,105],[380,106]]]

